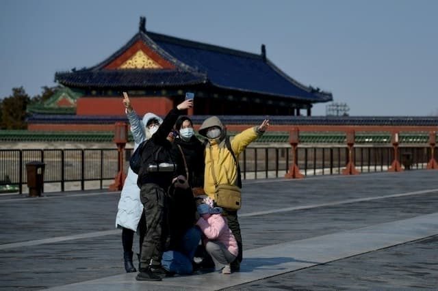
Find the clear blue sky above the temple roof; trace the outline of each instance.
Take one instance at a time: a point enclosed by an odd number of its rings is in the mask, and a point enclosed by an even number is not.
[[[0,98],[34,96],[146,30],[250,53],[350,115],[438,115],[436,0],[0,0]],[[326,103],[313,115],[325,115]]]

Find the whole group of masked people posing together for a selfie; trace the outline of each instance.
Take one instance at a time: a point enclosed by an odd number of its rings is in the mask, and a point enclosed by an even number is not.
[[[139,120],[129,96],[123,95],[134,150],[142,161],[138,173],[129,168],[118,202],[116,227],[122,228],[125,270],[138,271],[140,281],[188,275],[200,265],[194,256],[201,250],[203,263],[214,263],[224,274],[239,271],[237,210],[216,206],[214,193],[217,184],[238,184],[235,157],[238,161],[246,146],[266,131],[269,120],[229,140],[225,126],[212,116],[198,130],[205,138],[201,142],[190,117],[182,115],[194,106],[193,99],[181,102],[164,120],[153,113]],[[133,265],[135,232],[140,234],[138,270]]]

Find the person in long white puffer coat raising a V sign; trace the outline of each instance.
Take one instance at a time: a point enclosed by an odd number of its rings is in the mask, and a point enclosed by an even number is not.
[[[143,119],[138,119],[136,111],[131,106],[131,101],[126,92],[123,92],[123,105],[125,105],[125,113],[131,125],[131,133],[134,139],[134,149],[149,139],[153,131],[156,130],[159,124],[162,124],[161,117],[153,113],[146,113]],[[137,186],[138,175],[128,169],[128,175],[123,184],[120,200],[118,201],[118,210],[116,215],[116,227],[122,229],[122,244],[123,244],[123,259],[125,262],[125,271],[127,273],[136,272],[133,266],[133,236],[137,230],[140,233],[140,253],[144,234],[146,233],[146,222],[142,219],[143,204],[140,201],[140,189]]]

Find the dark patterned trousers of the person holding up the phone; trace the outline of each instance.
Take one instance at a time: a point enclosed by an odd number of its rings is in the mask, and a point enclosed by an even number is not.
[[[144,236],[140,268],[151,265],[161,266],[166,242],[167,221],[166,221],[166,191],[157,184],[144,184],[140,189],[140,199],[144,206],[144,217],[146,221],[146,235]]]

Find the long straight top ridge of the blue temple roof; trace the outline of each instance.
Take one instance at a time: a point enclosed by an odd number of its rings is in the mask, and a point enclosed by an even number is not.
[[[250,59],[260,59],[261,61],[263,60],[262,56],[257,54],[257,53],[248,53],[246,51],[240,51],[240,50],[233,49],[233,48],[226,48],[224,46],[218,46],[215,44],[207,44],[205,42],[196,42],[194,40],[177,38],[175,36],[168,36],[166,34],[156,33],[156,32],[152,32],[152,31],[148,31],[147,34],[153,40],[161,40],[163,42],[170,42],[173,44],[178,44],[180,46],[199,48],[199,49],[203,49],[205,51],[215,51],[217,53],[224,53],[227,55],[237,55],[239,57],[247,57]]]

